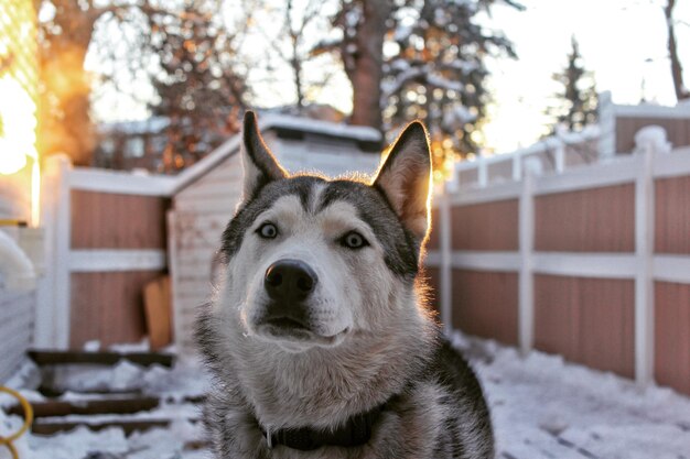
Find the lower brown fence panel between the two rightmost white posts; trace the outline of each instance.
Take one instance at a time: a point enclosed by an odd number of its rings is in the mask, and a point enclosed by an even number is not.
[[[634,319],[634,281],[535,276],[537,349],[632,378]]]

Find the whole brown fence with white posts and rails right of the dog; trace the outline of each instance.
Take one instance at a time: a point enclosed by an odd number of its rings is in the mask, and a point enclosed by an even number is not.
[[[690,393],[688,196],[690,149],[678,149],[436,199],[450,225],[434,222],[427,264],[445,321]]]

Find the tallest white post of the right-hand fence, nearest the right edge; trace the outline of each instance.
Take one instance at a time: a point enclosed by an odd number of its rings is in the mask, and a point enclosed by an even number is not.
[[[642,153],[635,181],[635,380],[654,381],[654,147]]]

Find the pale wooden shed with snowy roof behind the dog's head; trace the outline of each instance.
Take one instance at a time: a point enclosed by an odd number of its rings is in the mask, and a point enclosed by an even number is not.
[[[260,120],[263,139],[290,172],[330,176],[370,174],[380,160],[378,131],[284,116]],[[220,233],[241,193],[240,136],[220,145],[179,177],[168,214],[169,267],[173,288],[174,335],[181,353],[192,349],[194,315],[212,289]]]

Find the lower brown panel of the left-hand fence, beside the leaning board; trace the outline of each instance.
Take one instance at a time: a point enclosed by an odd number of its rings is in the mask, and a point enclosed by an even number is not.
[[[71,348],[136,342],[145,335],[143,287],[161,271],[72,274]]]

